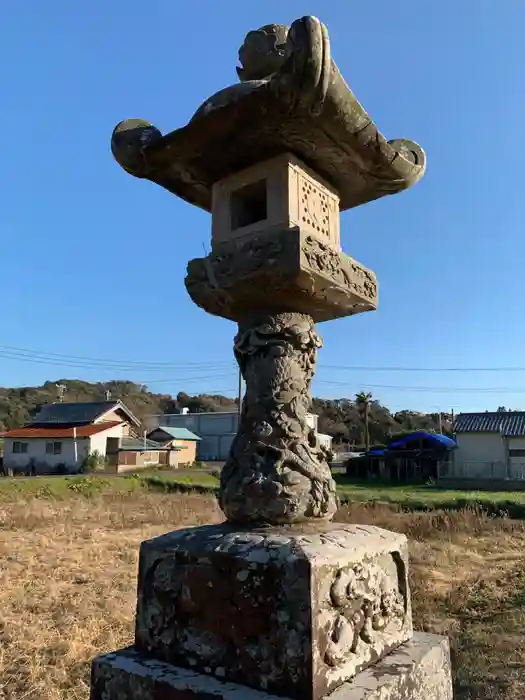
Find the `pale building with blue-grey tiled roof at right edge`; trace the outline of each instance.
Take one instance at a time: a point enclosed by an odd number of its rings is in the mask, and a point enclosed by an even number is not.
[[[447,477],[525,480],[525,412],[460,413],[454,423],[458,444]]]

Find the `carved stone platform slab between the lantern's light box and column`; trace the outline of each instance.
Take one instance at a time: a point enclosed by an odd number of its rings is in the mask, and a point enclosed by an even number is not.
[[[193,301],[233,321],[258,310],[308,314],[318,323],[377,308],[375,274],[299,228],[217,246],[191,260]]]

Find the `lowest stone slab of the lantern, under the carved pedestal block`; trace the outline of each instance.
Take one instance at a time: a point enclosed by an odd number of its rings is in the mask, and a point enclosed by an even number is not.
[[[91,700],[277,700],[246,686],[227,683],[130,647],[93,662]],[[361,671],[330,700],[452,700],[448,641],[415,634],[378,664]]]

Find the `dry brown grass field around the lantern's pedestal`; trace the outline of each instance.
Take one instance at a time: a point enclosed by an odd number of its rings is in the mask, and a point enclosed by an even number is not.
[[[354,505],[411,538],[419,629],[452,638],[456,698],[525,697],[525,523]],[[143,490],[0,500],[0,699],[87,700],[89,662],[130,643],[138,546],[221,520],[211,496]]]

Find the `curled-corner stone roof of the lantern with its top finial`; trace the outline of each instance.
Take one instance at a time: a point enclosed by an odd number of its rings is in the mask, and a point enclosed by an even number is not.
[[[207,211],[214,183],[288,151],[331,183],[342,211],[423,176],[423,150],[379,133],[315,17],[250,32],[239,57],[242,82],[206,100],[187,126],[159,137],[148,122],[121,122],[111,144],[119,164]]]

